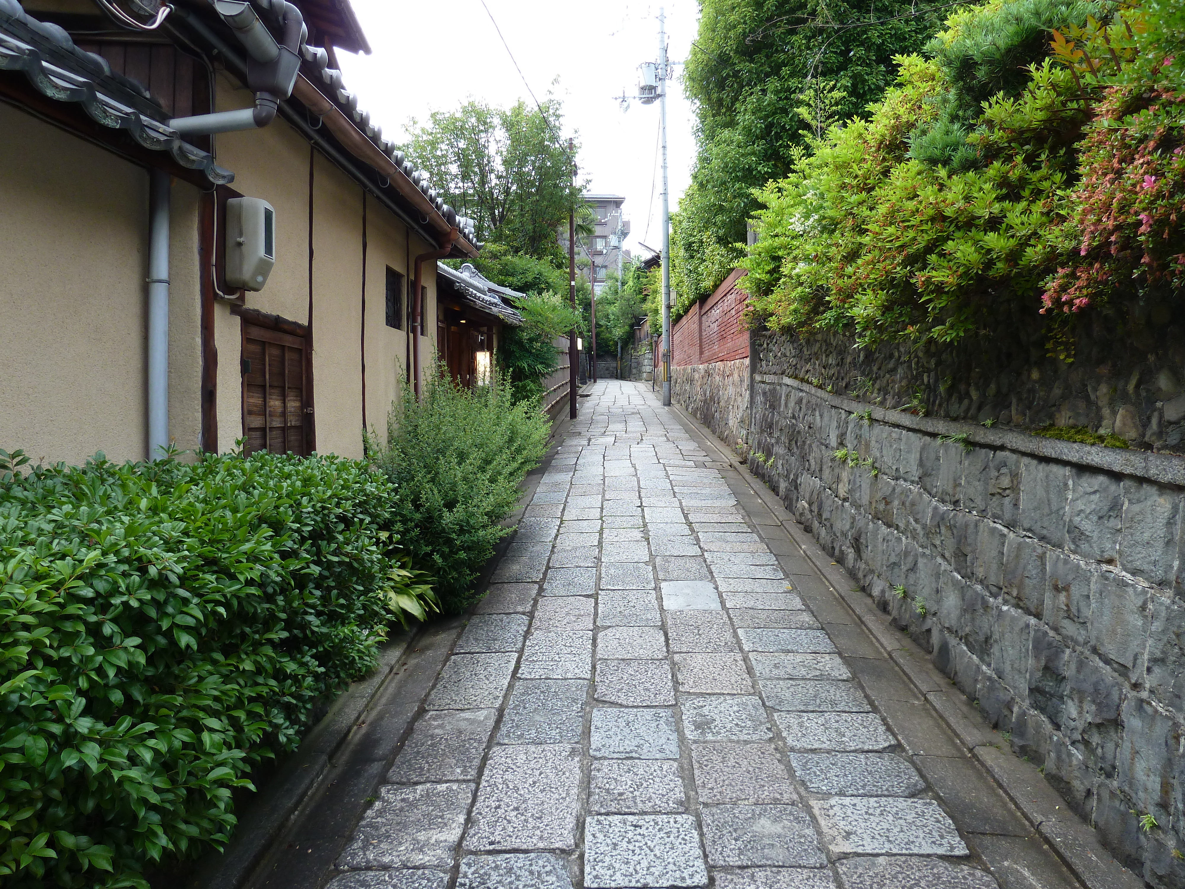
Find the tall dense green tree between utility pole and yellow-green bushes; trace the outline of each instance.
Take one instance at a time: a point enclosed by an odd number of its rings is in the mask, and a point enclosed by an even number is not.
[[[754,188],[787,175],[833,123],[863,115],[892,84],[892,57],[942,24],[936,0],[702,0],[684,87],[698,155],[674,216],[679,308],[736,267]]]

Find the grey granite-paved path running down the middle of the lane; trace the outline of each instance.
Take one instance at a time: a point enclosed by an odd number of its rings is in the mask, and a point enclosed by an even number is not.
[[[592,388],[331,889],[994,889],[757,531]]]

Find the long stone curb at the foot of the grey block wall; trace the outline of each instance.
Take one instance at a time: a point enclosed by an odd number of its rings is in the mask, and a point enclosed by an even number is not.
[[[792,382],[798,384],[798,380]],[[806,386],[803,385],[803,388]],[[858,404],[858,402],[851,403]],[[1095,831],[1070,811],[1065,800],[1050,786],[1036,766],[1019,759],[1011,750],[1000,749],[998,746],[1001,740],[999,734],[987,724],[984,716],[967,701],[967,697],[957,690],[950,691],[950,680],[930,663],[929,657],[912,640],[889,625],[889,615],[882,614],[867,594],[857,588],[856,582],[848,577],[847,573],[832,562],[818,542],[794,522],[793,516],[777,499],[777,495],[766,485],[755,484],[757,480],[748,472],[748,467],[738,463],[729,453],[728,447],[710,429],[679,405],[672,404],[672,407],[680,420],[694,428],[723,456],[723,461],[737,471],[745,485],[781,522],[782,527],[802,551],[802,555],[811,561],[834,593],[844,600],[848,610],[876,640],[877,645],[901,667],[947,728],[984,766],[997,786],[1017,806],[1025,820],[1049,844],[1074,876],[1087,889],[1145,889],[1145,882],[1115,861],[1098,842]],[[912,418],[917,420],[917,417]],[[931,420],[930,422],[939,421]]]

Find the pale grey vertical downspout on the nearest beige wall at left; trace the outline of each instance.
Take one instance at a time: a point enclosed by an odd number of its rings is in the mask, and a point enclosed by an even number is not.
[[[148,172],[148,459],[168,448],[168,236],[172,177]]]

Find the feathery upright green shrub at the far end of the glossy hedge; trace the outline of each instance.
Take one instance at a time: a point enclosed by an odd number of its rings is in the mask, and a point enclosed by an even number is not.
[[[442,610],[456,614],[474,601],[473,581],[510,533],[499,523],[546,452],[547,434],[539,408],[512,403],[498,375],[469,390],[442,366],[429,375],[421,401],[404,390],[387,418],[385,446],[369,437],[372,459],[395,485],[401,543],[437,578]]]

